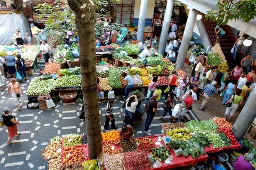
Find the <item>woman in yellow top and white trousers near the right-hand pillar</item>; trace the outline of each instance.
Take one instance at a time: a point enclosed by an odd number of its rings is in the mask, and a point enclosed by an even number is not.
[[[225,112],[225,118],[230,121],[230,118],[235,114],[235,111],[237,110],[238,106],[243,104],[243,97],[240,96],[242,90],[237,90],[236,94],[232,95],[229,101],[227,101],[225,104],[232,102],[231,107],[226,108]],[[234,100],[233,100],[234,99]],[[229,115],[229,118],[228,118]],[[227,119],[228,118],[228,119]]]

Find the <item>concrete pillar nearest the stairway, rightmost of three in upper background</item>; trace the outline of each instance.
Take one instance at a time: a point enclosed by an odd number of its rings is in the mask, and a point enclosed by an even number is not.
[[[187,19],[187,23],[186,23],[186,27],[184,30],[184,34],[182,37],[182,42],[179,48],[179,54],[178,54],[178,58],[177,58],[177,62],[176,62],[176,69],[182,69],[185,59],[186,59],[186,55],[188,52],[188,47],[189,47],[189,43],[191,40],[191,36],[193,34],[193,30],[194,30],[194,26],[195,26],[195,22],[196,22],[196,15],[197,15],[197,11],[191,7],[188,6],[189,9],[189,14],[188,14],[188,19]]]

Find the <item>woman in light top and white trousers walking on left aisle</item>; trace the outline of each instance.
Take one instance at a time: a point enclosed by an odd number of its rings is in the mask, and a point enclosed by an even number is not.
[[[12,93],[12,99],[15,102],[15,105],[17,106],[18,110],[21,110],[20,108],[20,96],[21,96],[21,87],[18,82],[16,82],[15,78],[10,79],[11,83],[9,83],[7,88],[7,95],[9,95],[9,91],[11,89]]]

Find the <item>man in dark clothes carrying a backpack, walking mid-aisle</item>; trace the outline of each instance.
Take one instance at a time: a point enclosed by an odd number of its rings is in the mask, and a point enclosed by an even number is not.
[[[149,130],[149,126],[155,117],[156,114],[156,109],[160,105],[160,102],[157,102],[156,99],[158,98],[158,94],[155,93],[153,96],[148,100],[148,102],[145,105],[145,111],[147,113],[147,118],[145,121],[145,127],[143,132],[146,133],[147,135],[151,135],[151,131]]]

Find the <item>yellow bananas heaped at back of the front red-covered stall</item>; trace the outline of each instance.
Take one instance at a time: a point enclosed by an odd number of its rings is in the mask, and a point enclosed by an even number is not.
[[[185,128],[174,128],[172,131],[168,131],[166,133],[167,136],[171,136],[172,139],[176,140],[182,140],[187,141],[191,139],[191,136],[189,135],[190,132],[188,129]]]

